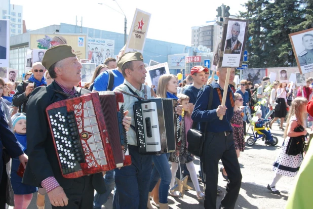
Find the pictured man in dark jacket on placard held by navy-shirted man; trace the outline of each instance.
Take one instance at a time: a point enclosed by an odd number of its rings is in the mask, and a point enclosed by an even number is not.
[[[240,24],[239,22],[234,22],[231,26],[231,38],[226,40],[224,54],[241,53],[242,43],[238,39],[239,34],[240,34]]]

